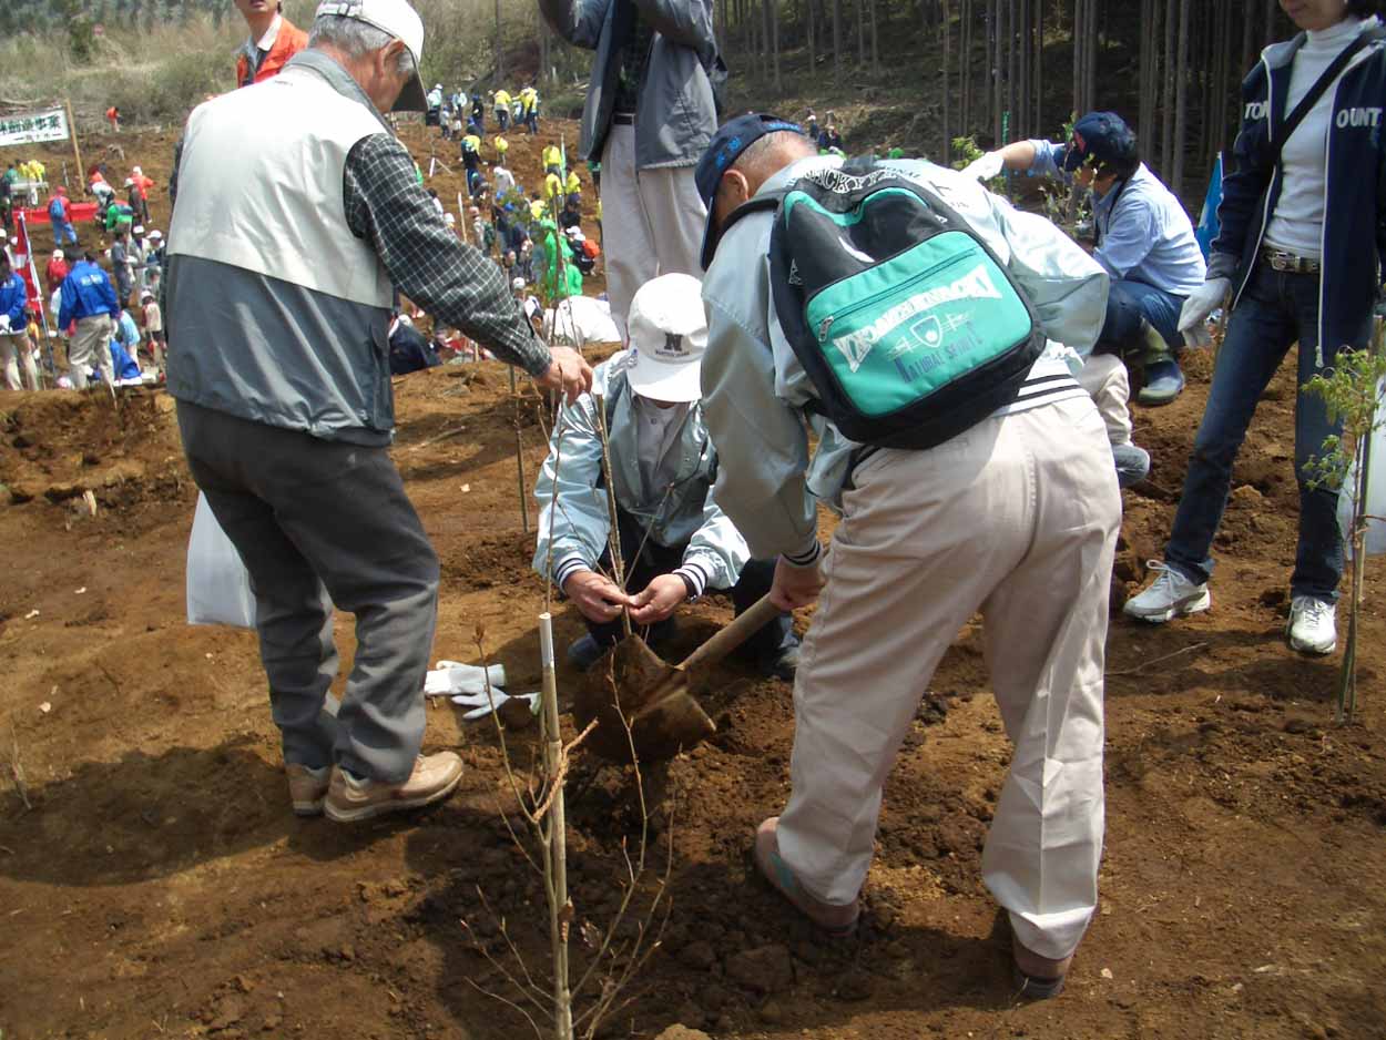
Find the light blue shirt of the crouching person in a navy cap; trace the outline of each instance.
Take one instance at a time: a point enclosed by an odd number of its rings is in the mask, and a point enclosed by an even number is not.
[[[1070,179],[1063,172],[1067,147],[1030,141],[1035,148],[1031,176]],[[1207,266],[1184,205],[1142,162],[1125,187],[1100,198],[1094,193],[1092,219],[1098,248],[1092,257],[1114,279],[1141,281],[1163,293],[1186,297],[1203,284]]]

